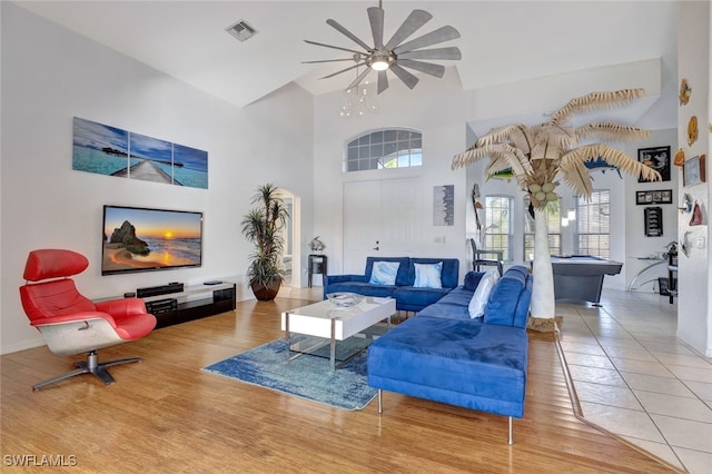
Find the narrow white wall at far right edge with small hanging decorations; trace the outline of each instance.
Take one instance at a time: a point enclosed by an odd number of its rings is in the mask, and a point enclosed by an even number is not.
[[[683,1],[679,3],[678,17],[678,56],[679,81],[688,79],[692,96],[688,105],[681,105],[678,110],[678,137],[685,156],[692,158],[706,155],[706,184],[682,186],[680,190],[688,192],[703,209],[704,225],[690,226],[690,214],[680,216],[678,231],[682,241],[685,234],[691,244],[689,255],[682,253],[678,257],[680,298],[678,303],[678,337],[693,346],[700,353],[712,357],[712,255],[710,254],[710,203],[712,187],[712,148],[710,124],[712,108],[712,58],[710,55],[710,28],[712,26],[712,9],[710,2]],[[698,117],[699,139],[688,144],[688,124],[692,116]],[[681,197],[679,197],[681,199]],[[698,248],[698,239],[702,239],[702,248]]]

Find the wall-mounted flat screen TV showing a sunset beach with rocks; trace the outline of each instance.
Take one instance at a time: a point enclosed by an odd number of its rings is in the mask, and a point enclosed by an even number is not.
[[[199,267],[202,213],[103,206],[101,275]]]

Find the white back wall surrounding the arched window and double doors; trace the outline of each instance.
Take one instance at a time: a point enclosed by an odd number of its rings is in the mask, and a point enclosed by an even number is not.
[[[342,80],[346,87],[353,77],[345,73],[329,80]],[[345,102],[343,92],[319,96],[315,100],[315,235],[327,245],[329,273],[340,274],[344,268],[343,219],[348,218],[342,211],[344,182],[417,177],[418,185],[412,190],[412,198],[422,209],[423,235],[417,243],[419,255],[416,256],[461,258],[462,277],[465,269],[465,171],[449,168],[452,157],[465,146],[465,102],[459,79],[454,68],[447,68],[444,78],[423,77],[413,90],[393,75],[389,85],[377,99],[378,113],[363,118],[338,116]],[[423,166],[344,174],[346,142],[366,131],[386,127],[408,127],[423,132]],[[439,185],[455,186],[456,217],[452,227],[433,226],[433,186]]]

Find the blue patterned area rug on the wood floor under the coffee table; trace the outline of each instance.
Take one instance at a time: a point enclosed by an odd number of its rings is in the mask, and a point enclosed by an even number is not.
[[[328,358],[303,355],[289,361],[287,343],[283,338],[209,365],[204,371],[342,409],[363,409],[378,393],[368,386],[366,352],[332,372]]]

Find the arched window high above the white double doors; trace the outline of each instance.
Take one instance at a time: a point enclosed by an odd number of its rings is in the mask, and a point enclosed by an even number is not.
[[[346,146],[346,171],[407,168],[423,165],[423,135],[407,128],[389,128],[362,135]]]

